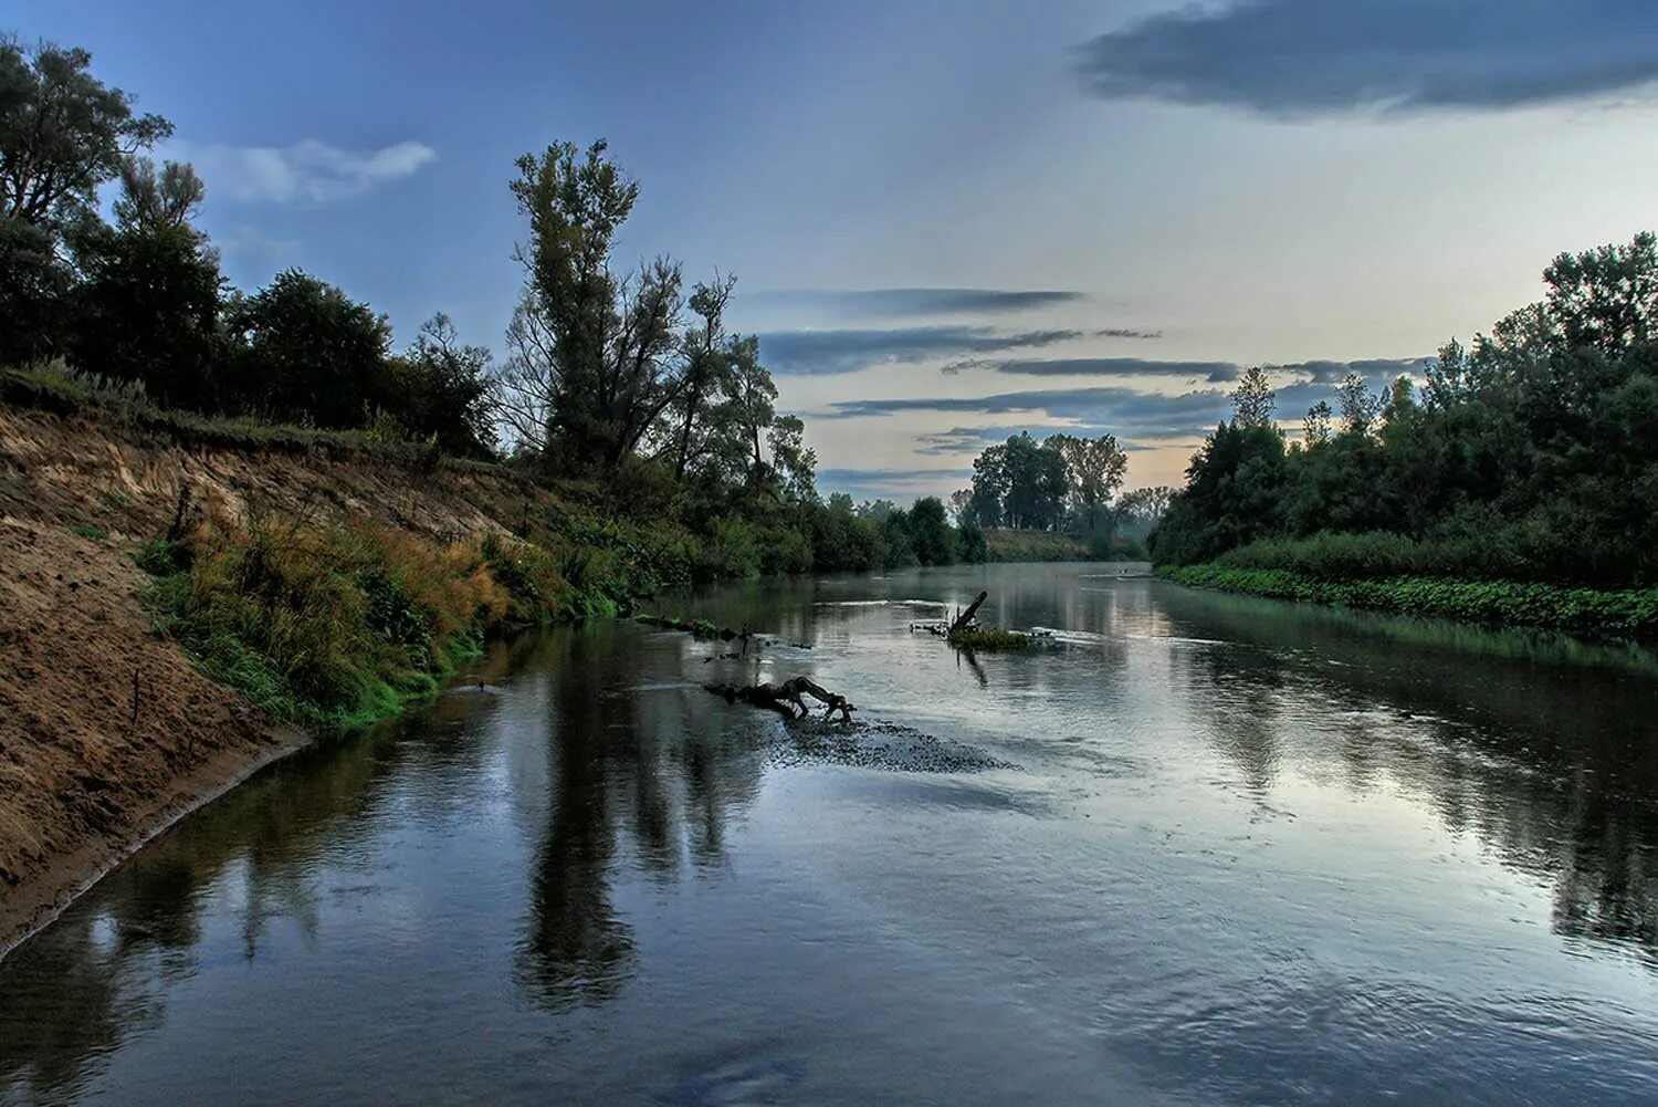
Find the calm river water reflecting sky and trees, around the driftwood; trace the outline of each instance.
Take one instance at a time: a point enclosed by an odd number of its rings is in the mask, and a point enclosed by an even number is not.
[[[910,631],[980,588],[1054,644]],[[1658,1102],[1646,654],[1109,566],[663,609],[783,642],[522,639],[260,775],[0,963],[0,1102]],[[797,672],[859,729],[701,687]]]

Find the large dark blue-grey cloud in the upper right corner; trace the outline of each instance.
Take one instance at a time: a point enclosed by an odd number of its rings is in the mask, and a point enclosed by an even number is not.
[[[1239,0],[1182,7],[1076,50],[1106,100],[1270,116],[1504,110],[1658,80],[1651,0]]]

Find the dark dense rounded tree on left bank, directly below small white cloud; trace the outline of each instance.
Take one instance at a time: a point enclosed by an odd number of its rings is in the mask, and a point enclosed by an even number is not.
[[[229,392],[240,410],[318,427],[361,427],[391,402],[391,327],[366,304],[298,269],[225,310],[235,350]]]

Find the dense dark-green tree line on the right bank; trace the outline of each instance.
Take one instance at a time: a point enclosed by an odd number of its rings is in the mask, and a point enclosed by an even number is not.
[[[1419,382],[1350,375],[1280,427],[1244,375],[1151,538],[1161,563],[1326,578],[1658,579],[1658,237],[1567,252]],[[1333,400],[1333,403],[1331,403]]]

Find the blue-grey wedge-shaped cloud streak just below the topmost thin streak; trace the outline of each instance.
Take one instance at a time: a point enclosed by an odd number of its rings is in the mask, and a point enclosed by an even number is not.
[[[899,327],[892,330],[774,330],[759,335],[759,354],[778,375],[851,373],[889,363],[915,363],[962,354],[993,354],[1071,342],[1091,330],[1026,330],[991,327]]]

